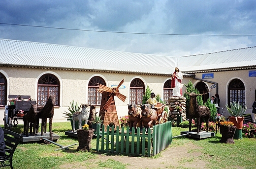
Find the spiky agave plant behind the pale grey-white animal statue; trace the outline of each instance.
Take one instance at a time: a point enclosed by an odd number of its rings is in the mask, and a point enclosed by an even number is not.
[[[64,111],[64,115],[63,116],[64,118],[67,118],[67,121],[70,121],[71,123],[71,127],[72,127],[72,130],[73,130],[73,120],[72,120],[72,117],[73,117],[73,114],[75,112],[79,112],[81,109],[80,105],[78,104],[78,102],[76,101],[76,103],[74,103],[74,100],[72,102],[70,102],[70,106],[68,106],[68,111],[69,112],[66,112]],[[82,125],[84,125],[85,121],[82,121]],[[75,130],[78,129],[78,121],[75,122]]]

